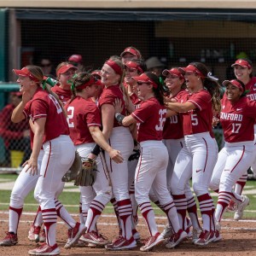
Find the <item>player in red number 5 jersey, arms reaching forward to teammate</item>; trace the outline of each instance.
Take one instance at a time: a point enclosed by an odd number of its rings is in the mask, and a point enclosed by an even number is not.
[[[197,245],[206,245],[215,239],[214,228],[212,230],[213,201],[208,193],[208,185],[218,152],[211,132],[212,108],[217,112],[220,108],[220,86],[217,79],[208,73],[207,67],[200,62],[192,62],[188,67],[180,67],[178,70],[184,74],[189,94],[182,97],[180,102],[167,103],[167,108],[180,113],[184,134],[184,146],[177,155],[172,173],[172,196],[185,207],[185,187],[192,177],[203,222],[203,230],[193,230],[192,239]],[[184,220],[185,211],[179,213]]]

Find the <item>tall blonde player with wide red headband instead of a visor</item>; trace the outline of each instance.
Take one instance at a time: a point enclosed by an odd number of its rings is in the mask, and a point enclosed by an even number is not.
[[[109,145],[118,149],[124,159],[123,163],[116,164],[106,154],[106,162],[112,182],[113,196],[117,201],[122,236],[106,246],[109,250],[121,250],[136,247],[136,241],[132,236],[131,217],[132,207],[128,189],[128,165],[127,161],[133,149],[133,139],[129,128],[118,124],[114,119],[113,102],[116,98],[122,102],[128,102],[129,98],[121,84],[125,75],[124,66],[119,58],[112,57],[102,67],[102,84],[105,88],[99,99],[99,108],[102,113],[102,133]],[[126,94],[125,94],[126,93]],[[125,98],[125,100],[124,100]],[[125,109],[123,111],[125,114]]]

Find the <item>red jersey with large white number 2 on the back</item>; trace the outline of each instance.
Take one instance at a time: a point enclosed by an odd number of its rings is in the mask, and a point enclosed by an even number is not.
[[[72,102],[67,102],[64,108],[67,109],[69,136],[73,144],[94,143],[89,127],[102,126],[100,110],[96,103],[91,99],[85,100],[81,96],[76,96]]]

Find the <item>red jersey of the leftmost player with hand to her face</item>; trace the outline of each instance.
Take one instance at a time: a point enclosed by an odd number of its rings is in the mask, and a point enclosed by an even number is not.
[[[59,102],[42,88],[38,88],[32,100],[26,103],[23,113],[32,122],[46,118],[43,143],[69,134],[67,119]]]

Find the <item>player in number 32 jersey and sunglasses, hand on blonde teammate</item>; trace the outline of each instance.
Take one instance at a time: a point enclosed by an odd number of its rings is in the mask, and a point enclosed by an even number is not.
[[[140,250],[148,251],[164,240],[158,232],[154,211],[149,201],[151,187],[174,231],[166,247],[175,247],[187,237],[187,234],[180,229],[176,207],[166,186],[168,152],[162,143],[162,131],[166,120],[164,89],[154,73],[143,73],[133,79],[137,81],[138,96],[143,98],[143,102],[139,108],[126,117],[121,114],[122,108],[119,102],[116,105],[115,117],[119,124],[124,126],[139,124],[137,140],[140,143],[141,156],[135,173],[135,197],[150,233],[150,237]]]

